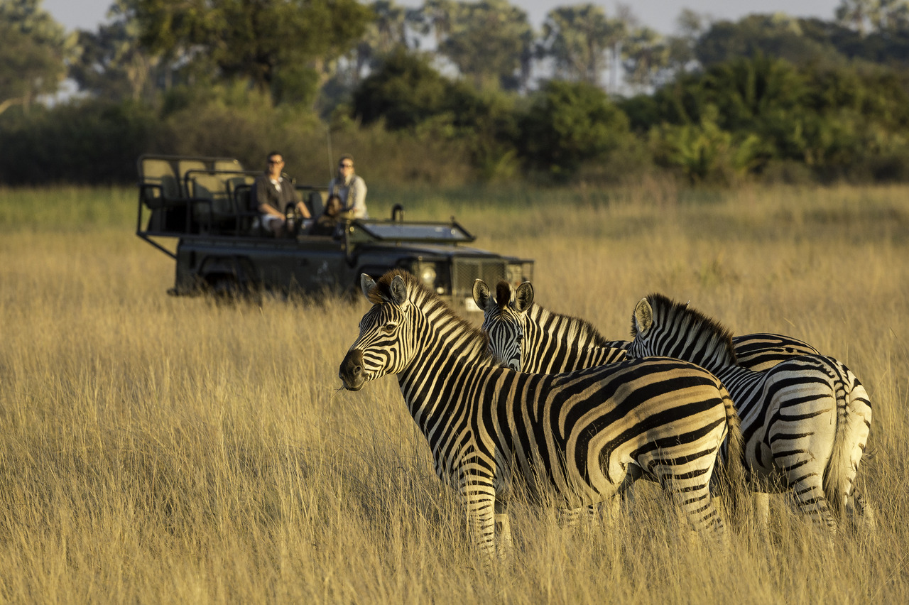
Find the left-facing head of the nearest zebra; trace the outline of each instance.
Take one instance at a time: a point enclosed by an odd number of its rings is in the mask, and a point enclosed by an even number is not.
[[[360,320],[360,335],[338,369],[348,391],[359,391],[366,382],[385,374],[402,372],[414,351],[413,339],[407,338],[413,332],[408,330],[413,304],[402,275],[385,273],[375,283],[363,273],[360,288],[373,306]]]

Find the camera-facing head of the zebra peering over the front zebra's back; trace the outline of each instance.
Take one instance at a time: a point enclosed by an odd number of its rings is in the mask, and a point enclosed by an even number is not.
[[[524,320],[534,302],[534,286],[524,282],[514,291],[507,282],[499,282],[493,299],[483,280],[474,282],[474,302],[483,309],[483,331],[489,337],[489,352],[512,370],[521,370]]]

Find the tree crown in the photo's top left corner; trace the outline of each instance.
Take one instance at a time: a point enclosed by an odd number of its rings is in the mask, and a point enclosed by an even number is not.
[[[0,114],[57,91],[75,36],[66,35],[41,0],[0,0],[0,40]]]

